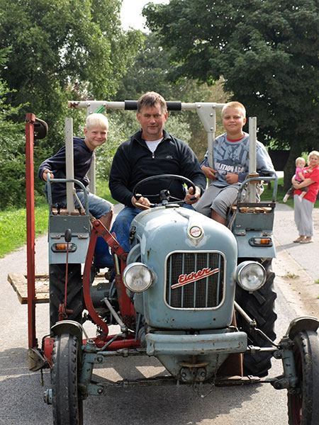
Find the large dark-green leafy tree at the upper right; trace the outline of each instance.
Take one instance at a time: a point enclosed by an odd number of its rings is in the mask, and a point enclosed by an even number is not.
[[[291,149],[291,167],[317,145],[317,0],[171,0],[143,14],[169,50],[172,79],[223,76],[225,91],[258,117],[259,140]]]

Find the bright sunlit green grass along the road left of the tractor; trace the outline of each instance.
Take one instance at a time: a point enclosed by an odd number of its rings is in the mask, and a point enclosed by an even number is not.
[[[96,194],[116,203],[111,197],[108,182],[96,185]],[[35,237],[47,232],[49,208],[44,198],[35,205]],[[0,258],[26,244],[26,208],[0,211]]]

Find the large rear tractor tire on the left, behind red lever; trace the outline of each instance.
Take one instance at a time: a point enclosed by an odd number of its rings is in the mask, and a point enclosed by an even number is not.
[[[59,306],[65,302],[65,264],[50,264],[50,329],[58,321]],[[81,264],[68,265],[67,310],[72,310],[67,319],[82,323],[83,292]]]

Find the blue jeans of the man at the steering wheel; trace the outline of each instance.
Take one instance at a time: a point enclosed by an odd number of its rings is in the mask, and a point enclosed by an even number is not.
[[[184,203],[183,207],[194,210],[192,205],[186,203]],[[116,234],[116,239],[125,252],[130,251],[130,223],[139,212],[141,210],[138,208],[125,207],[118,213],[115,222],[113,222],[111,233],[114,232]]]

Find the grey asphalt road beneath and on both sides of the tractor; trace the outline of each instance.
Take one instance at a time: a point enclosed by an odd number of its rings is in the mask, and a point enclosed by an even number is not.
[[[290,242],[296,235],[294,227],[288,227],[287,224],[291,220],[289,219],[291,208],[286,205],[282,207],[283,210],[280,207],[276,215],[275,234],[279,255],[274,261],[278,275],[276,332],[279,336],[285,333],[290,320],[296,315],[316,315],[313,313],[318,311],[316,293],[319,293],[319,285],[313,283],[318,276],[315,274],[315,267],[311,267],[311,263],[315,263],[317,257],[314,249],[317,242],[303,246],[291,245]],[[284,220],[284,226],[280,220]],[[276,233],[277,227],[285,227],[284,236],[279,231]],[[47,271],[46,239],[41,237],[36,242],[36,273]],[[318,249],[316,252],[318,253]],[[301,261],[305,256],[307,261],[309,256],[312,259],[310,266],[305,266]],[[6,280],[8,273],[18,271],[25,273],[26,249],[20,249],[0,259],[0,270],[0,424],[52,424],[52,408],[43,402],[43,391],[50,387],[50,373],[45,371],[43,374],[44,386],[42,386],[40,373],[28,370],[27,307],[18,302],[16,293]],[[48,305],[37,305],[36,316],[37,336],[40,340],[49,329]],[[96,369],[94,372],[96,375],[108,376],[109,379],[116,381],[122,378],[157,375],[163,370],[156,359],[139,357],[112,358],[106,368]],[[269,375],[276,376],[280,373],[281,363],[274,361]],[[106,390],[104,395],[91,396],[84,401],[84,424],[285,425],[288,423],[286,391],[274,390],[271,385],[231,388],[205,386],[202,393],[204,397],[186,386]]]

